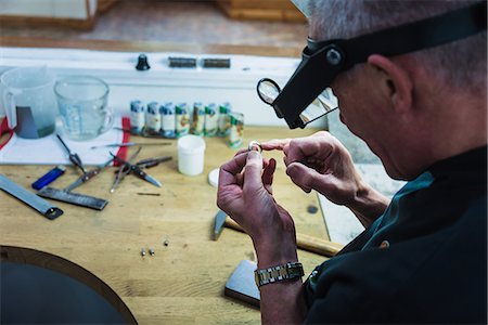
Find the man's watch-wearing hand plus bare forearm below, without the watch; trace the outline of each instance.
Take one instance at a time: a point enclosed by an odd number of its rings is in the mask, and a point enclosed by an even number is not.
[[[217,205],[252,237],[258,269],[298,260],[293,219],[272,196],[275,166],[258,152],[241,151],[220,167]],[[262,324],[303,322],[301,281],[267,284],[259,291]]]

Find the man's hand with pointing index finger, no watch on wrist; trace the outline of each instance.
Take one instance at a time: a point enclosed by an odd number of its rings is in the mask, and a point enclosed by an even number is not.
[[[389,199],[365,184],[349,152],[329,132],[261,143],[264,151],[284,153],[286,173],[301,190],[316,190],[331,202],[348,207],[364,226],[371,224]]]

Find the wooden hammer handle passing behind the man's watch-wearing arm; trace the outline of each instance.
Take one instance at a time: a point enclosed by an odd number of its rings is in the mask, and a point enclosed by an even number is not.
[[[226,218],[226,226],[244,232],[241,225],[239,225],[237,222],[233,221],[230,218]],[[296,246],[300,249],[316,252],[322,256],[332,257],[336,255],[341,249],[343,249],[344,245],[338,243],[333,243],[330,240],[303,235],[303,234],[296,234]]]

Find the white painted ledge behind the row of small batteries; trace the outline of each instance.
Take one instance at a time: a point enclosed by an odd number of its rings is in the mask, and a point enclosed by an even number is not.
[[[187,53],[149,53],[151,69],[138,72],[140,53],[61,49],[0,49],[0,73],[15,66],[47,65],[57,78],[91,75],[111,87],[110,105],[118,114],[129,114],[132,100],[158,102],[230,102],[233,110],[245,115],[246,125],[286,126],[256,93],[259,79],[269,77],[284,86],[298,60],[246,55],[191,55]],[[231,68],[170,68],[169,56],[226,57]],[[325,119],[313,122],[325,127]]]

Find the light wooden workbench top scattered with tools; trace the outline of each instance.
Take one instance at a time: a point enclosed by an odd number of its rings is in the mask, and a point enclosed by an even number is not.
[[[245,127],[244,143],[312,132]],[[163,187],[128,176],[111,194],[115,170],[111,168],[76,190],[108,199],[103,211],[53,202],[64,214],[51,221],[0,191],[0,245],[34,248],[81,265],[114,289],[140,324],[259,323],[257,309],[223,296],[224,284],[239,262],[256,258],[245,234],[224,230],[219,240],[211,240],[217,188],[208,184],[207,174],[235,150],[221,138],[205,140],[201,176],[185,177],[177,171],[176,141],[171,141],[171,145],[143,147],[138,157],[174,156],[147,170]],[[277,158],[274,196],[294,217],[297,232],[326,238],[320,210],[307,212],[309,205],[319,206],[317,195],[304,193],[290,181],[281,153],[265,156]],[[0,165],[0,173],[30,188],[50,168]],[[64,187],[78,176],[70,167],[51,186]],[[142,247],[154,248],[155,256],[141,257]],[[298,255],[306,274],[325,259],[301,250]]]

